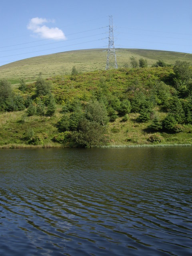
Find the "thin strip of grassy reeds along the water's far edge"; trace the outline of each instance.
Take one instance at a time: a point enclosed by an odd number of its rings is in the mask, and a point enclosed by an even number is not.
[[[108,145],[94,148],[166,148],[166,147],[191,147],[192,144],[131,144],[131,145]],[[0,149],[32,149],[32,148],[80,148],[67,147],[63,144],[27,145],[27,144],[7,144],[0,146]],[[82,148],[82,147],[81,147]]]

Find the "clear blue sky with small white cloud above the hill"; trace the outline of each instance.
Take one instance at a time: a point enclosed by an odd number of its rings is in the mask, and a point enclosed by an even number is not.
[[[57,52],[102,51],[109,16],[115,48],[192,53],[191,0],[0,0],[0,66]]]

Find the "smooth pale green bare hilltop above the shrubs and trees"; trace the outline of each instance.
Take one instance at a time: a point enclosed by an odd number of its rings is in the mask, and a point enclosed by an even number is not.
[[[6,78],[12,84],[17,84],[20,78],[24,78],[27,81],[36,80],[40,72],[43,78],[70,74],[73,66],[76,66],[78,72],[105,70],[106,54],[106,50],[91,49],[28,58],[0,66],[0,78]],[[159,59],[164,60],[168,64],[174,64],[176,60],[192,62],[192,54],[117,48],[116,58],[118,67],[120,68],[125,65],[130,67],[131,56],[134,56],[136,60],[145,58],[149,66]]]

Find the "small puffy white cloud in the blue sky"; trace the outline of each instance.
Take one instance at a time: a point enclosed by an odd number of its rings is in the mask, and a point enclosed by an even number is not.
[[[34,34],[37,34],[41,38],[45,39],[54,39],[54,40],[66,40],[66,36],[62,32],[61,29],[55,27],[55,28],[49,28],[48,26],[45,26],[44,23],[52,22],[54,23],[54,20],[47,20],[46,18],[32,18],[27,25],[27,28],[29,30],[32,30]]]

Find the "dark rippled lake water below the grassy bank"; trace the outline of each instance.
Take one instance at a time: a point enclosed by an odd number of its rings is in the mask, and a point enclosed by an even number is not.
[[[0,150],[0,255],[192,255],[192,148]]]

